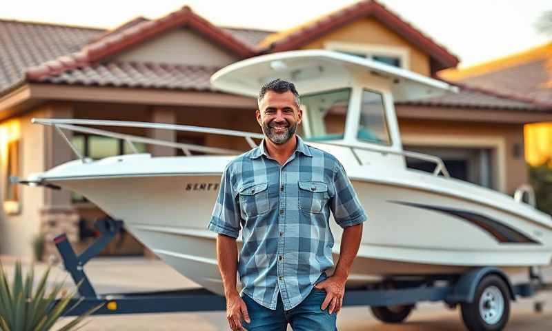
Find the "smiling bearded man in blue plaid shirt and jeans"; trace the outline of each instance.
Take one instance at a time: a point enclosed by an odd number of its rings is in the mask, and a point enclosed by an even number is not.
[[[232,330],[286,330],[288,323],[295,331],[337,330],[366,214],[341,163],[295,134],[302,110],[293,83],[266,83],[258,106],[264,139],[227,165],[208,226],[218,233],[228,323]],[[344,232],[335,272],[327,277],[330,210]]]

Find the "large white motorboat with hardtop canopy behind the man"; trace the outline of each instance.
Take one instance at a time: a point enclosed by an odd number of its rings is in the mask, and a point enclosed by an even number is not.
[[[273,77],[302,94],[302,137],[331,152],[346,169],[368,214],[351,270],[354,285],[373,277],[456,274],[480,266],[506,272],[548,265],[552,219],[522,200],[453,179],[437,157],[402,149],[393,102],[455,92],[455,87],[369,59],[322,50],[269,54],[234,63],[212,77],[215,88],[254,97]],[[251,119],[254,120],[253,117]],[[261,134],[161,123],[34,119],[34,123],[133,142],[181,148],[183,157],[126,154],[93,161],[79,157],[26,183],[54,185],[85,196],[173,268],[222,294],[215,236],[206,226],[221,172],[237,152],[117,134],[88,126],[137,126],[243,137]],[[337,124],[336,124],[337,123]],[[69,142],[69,141],[68,141]],[[210,153],[192,156],[190,151]],[[406,167],[406,157],[435,163],[435,171]],[[331,220],[334,257],[341,228]]]

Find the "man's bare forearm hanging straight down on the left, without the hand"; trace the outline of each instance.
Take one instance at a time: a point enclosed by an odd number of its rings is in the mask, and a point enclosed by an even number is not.
[[[217,261],[224,284],[224,296],[237,293],[237,244],[236,239],[219,234],[217,236]]]

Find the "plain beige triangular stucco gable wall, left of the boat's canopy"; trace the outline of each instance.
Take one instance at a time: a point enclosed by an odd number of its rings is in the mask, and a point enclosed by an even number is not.
[[[121,52],[113,59],[226,66],[236,61],[237,57],[213,42],[206,41],[197,32],[177,28]]]

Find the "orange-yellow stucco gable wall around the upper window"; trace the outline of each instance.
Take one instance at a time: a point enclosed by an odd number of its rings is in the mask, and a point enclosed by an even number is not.
[[[319,39],[311,41],[311,43],[302,46],[302,49],[324,49],[325,44],[331,41],[406,48],[410,54],[409,70],[426,76],[431,74],[429,57],[427,54],[417,49],[411,43],[408,43],[408,41],[400,37],[400,35],[388,30],[388,28],[375,19],[359,19],[358,21],[325,34]]]

